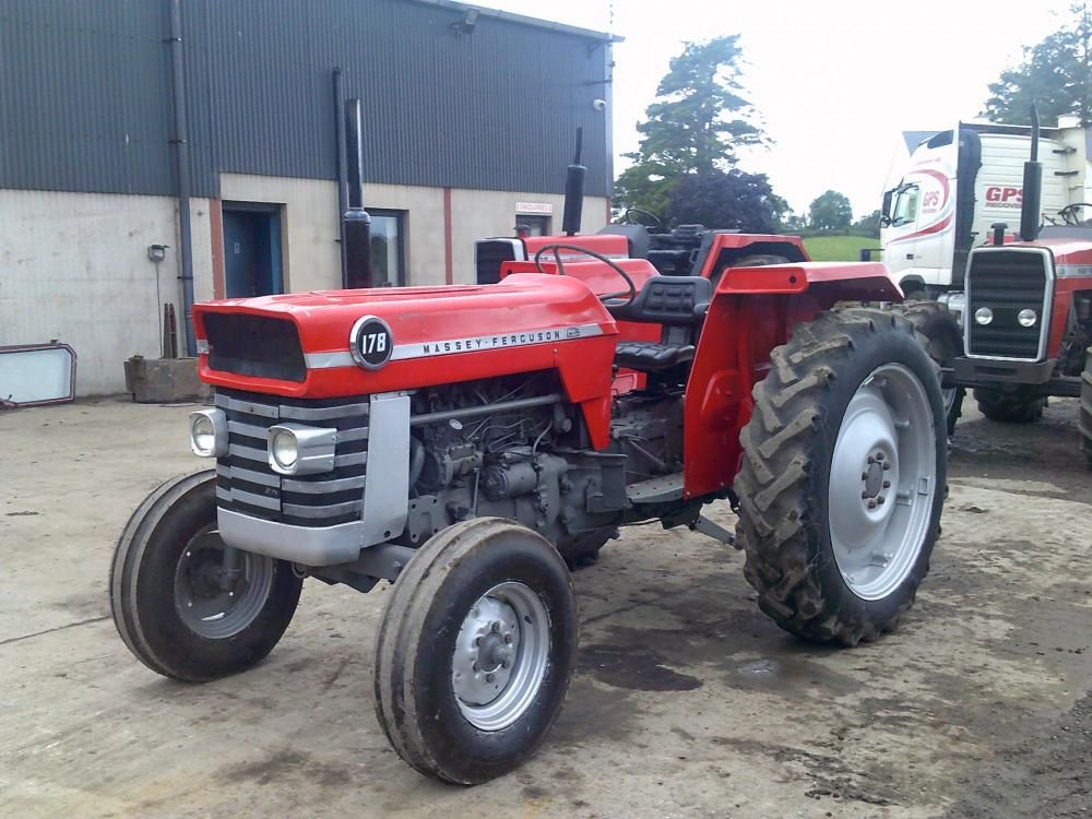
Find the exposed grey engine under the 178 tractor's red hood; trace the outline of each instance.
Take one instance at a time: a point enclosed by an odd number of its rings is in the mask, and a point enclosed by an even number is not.
[[[413,395],[410,512],[400,542],[418,547],[467,518],[515,520],[566,546],[608,535],[628,483],[677,472],[681,394],[615,401],[610,446],[589,447],[555,373],[428,388]]]

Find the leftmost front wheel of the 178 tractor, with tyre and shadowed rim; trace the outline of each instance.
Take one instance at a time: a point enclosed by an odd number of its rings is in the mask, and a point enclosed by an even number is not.
[[[292,567],[241,550],[226,566],[225,555],[214,471],[171,478],[129,519],[110,566],[110,612],[152,670],[187,682],[236,674],[288,628],[302,584]]]

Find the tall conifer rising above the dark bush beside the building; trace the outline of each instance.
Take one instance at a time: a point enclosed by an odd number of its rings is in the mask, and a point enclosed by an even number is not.
[[[739,82],[739,35],[687,43],[656,88],[656,102],[637,126],[633,165],[615,182],[619,207],[665,213],[672,189],[687,174],[710,176],[735,165],[736,150],[763,141]]]

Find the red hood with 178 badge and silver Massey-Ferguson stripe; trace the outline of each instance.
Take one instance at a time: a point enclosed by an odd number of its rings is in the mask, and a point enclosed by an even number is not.
[[[551,369],[600,346],[609,372],[617,334],[586,285],[537,273],[211,301],[193,321],[203,381],[314,399]]]

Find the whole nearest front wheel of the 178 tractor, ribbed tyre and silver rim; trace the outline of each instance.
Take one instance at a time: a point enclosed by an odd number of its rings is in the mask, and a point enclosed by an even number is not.
[[[427,776],[487,782],[538,750],[577,657],[569,571],[500,518],[454,524],[413,556],[376,646],[376,714]]]

